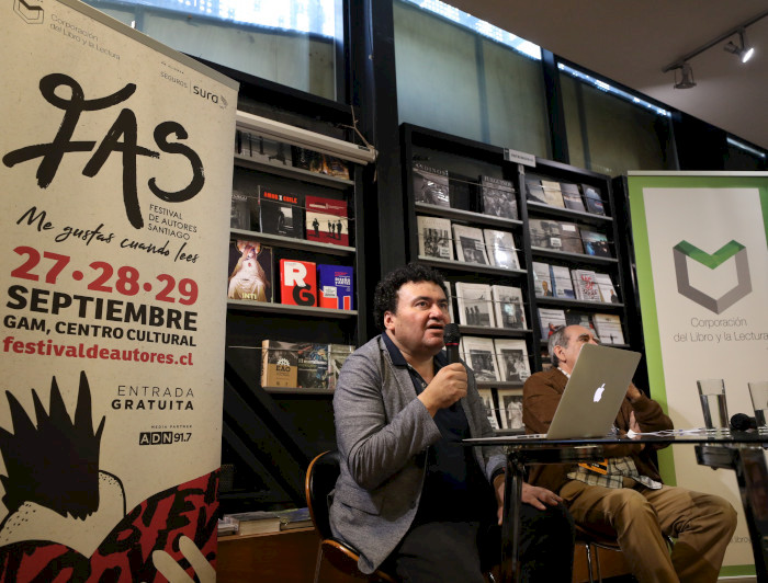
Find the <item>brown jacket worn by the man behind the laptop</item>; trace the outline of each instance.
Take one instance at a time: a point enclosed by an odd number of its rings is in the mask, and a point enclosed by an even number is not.
[[[567,381],[568,378],[557,368],[529,377],[522,388],[522,421],[528,433],[549,431]],[[645,396],[635,400],[634,403],[629,399],[623,400],[615,418],[617,427],[624,432],[629,431],[632,411],[643,432],[673,428],[671,420],[664,414],[659,404]],[[606,446],[605,451],[608,457],[630,456],[641,475],[660,481],[658,469],[651,457],[651,453],[658,447],[665,446],[646,445],[642,448],[640,444],[609,445]],[[560,492],[563,484],[569,481],[567,473],[575,467],[574,465],[533,466],[528,482]]]

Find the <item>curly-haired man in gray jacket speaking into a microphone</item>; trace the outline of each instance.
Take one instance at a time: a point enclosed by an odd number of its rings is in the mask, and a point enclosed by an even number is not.
[[[334,395],[334,535],[360,551],[364,573],[481,583],[499,559],[506,464],[500,448],[461,445],[493,430],[458,335],[451,362],[443,352],[442,276],[416,264],[389,273],[374,318],[382,334],[347,359]],[[571,581],[573,519],[561,499],[523,484],[522,501],[523,581]]]

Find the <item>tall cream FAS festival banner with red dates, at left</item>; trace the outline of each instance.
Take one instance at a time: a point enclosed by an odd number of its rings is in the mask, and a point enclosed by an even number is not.
[[[0,33],[0,581],[214,581],[237,84],[75,0]]]

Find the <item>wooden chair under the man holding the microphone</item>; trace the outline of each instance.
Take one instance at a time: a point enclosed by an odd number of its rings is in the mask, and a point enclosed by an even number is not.
[[[334,538],[330,530],[329,500],[330,491],[336,485],[339,477],[339,453],[324,451],[312,460],[307,468],[305,481],[305,492],[309,516],[315,525],[315,529],[320,537],[320,545],[317,549],[317,562],[315,564],[315,583],[320,575],[323,558],[326,557],[336,569],[359,579],[369,581],[396,583],[396,580],[383,572],[375,571],[366,575],[358,569],[360,553],[350,545]]]

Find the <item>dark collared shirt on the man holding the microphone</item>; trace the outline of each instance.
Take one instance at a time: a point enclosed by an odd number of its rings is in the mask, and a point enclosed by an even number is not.
[[[386,332],[382,333],[384,344],[396,367],[406,367],[410,380],[420,395],[427,382],[403,356]],[[444,352],[434,358],[437,374],[448,364]],[[484,512],[493,511],[488,506],[488,487],[471,447],[463,447],[461,441],[471,437],[470,423],[460,401],[451,407],[440,409],[434,415],[434,423],[442,439],[427,450],[427,477],[421,491],[419,510],[414,524],[433,521],[479,521]]]

